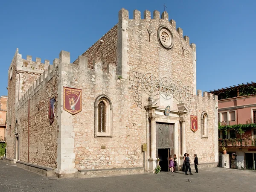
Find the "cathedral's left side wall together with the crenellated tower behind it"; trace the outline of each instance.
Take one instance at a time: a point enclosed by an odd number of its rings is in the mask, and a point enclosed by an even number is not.
[[[21,56],[17,50],[9,69],[13,70],[12,80],[9,78],[8,82],[8,107],[12,111],[12,120],[7,137],[7,157],[15,158],[18,136],[20,161],[55,168],[57,120],[49,125],[48,111],[49,99],[58,98],[58,76],[53,76],[58,67],[52,70],[53,66],[47,60],[42,64],[40,58],[32,61],[31,56],[26,60]],[[7,122],[10,122],[9,115]]]

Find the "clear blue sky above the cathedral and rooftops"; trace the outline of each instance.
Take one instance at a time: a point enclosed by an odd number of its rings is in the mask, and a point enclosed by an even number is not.
[[[16,48],[50,64],[61,50],[71,61],[118,21],[118,11],[163,12],[197,46],[197,89],[209,91],[256,81],[255,0],[8,0],[0,1],[0,95]],[[142,14],[143,15],[143,14]],[[153,15],[153,14],[151,14]]]

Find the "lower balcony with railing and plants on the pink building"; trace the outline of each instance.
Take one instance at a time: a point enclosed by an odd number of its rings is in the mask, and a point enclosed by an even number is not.
[[[235,138],[235,139],[219,139],[219,147],[256,147],[256,139]]]

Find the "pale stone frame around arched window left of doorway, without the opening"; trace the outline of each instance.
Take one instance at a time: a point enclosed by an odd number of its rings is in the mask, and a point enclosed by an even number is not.
[[[98,105],[100,102],[104,102],[106,106],[106,123],[105,123],[105,132],[99,132],[99,108]],[[94,132],[95,132],[95,137],[112,137],[112,103],[111,100],[108,98],[106,95],[100,95],[97,97],[95,103],[94,103]]]

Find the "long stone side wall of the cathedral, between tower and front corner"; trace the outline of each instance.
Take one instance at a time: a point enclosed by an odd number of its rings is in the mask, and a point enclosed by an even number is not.
[[[41,166],[57,167],[57,119],[49,123],[49,100],[55,97],[58,104],[57,66],[48,65],[47,70],[16,103],[15,130],[8,145],[15,148],[15,137],[19,136],[20,161]],[[15,135],[16,134],[16,135]],[[7,151],[9,154],[9,151]],[[14,158],[14,156],[12,156]]]

